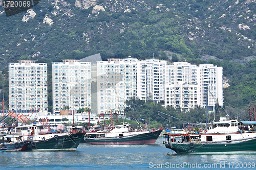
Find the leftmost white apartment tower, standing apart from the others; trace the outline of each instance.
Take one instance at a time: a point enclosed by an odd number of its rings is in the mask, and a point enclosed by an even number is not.
[[[9,63],[9,110],[24,115],[32,108],[48,111],[47,63],[35,62]]]

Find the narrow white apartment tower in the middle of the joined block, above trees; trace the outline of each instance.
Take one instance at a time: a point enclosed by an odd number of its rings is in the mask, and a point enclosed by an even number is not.
[[[164,103],[165,73],[167,62],[150,59],[137,61],[137,97]]]

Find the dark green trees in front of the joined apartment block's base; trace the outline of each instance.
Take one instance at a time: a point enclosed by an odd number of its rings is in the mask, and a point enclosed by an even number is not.
[[[164,108],[161,106],[162,105],[161,103],[156,104],[156,103],[153,103],[152,101],[145,102],[135,98],[132,98],[129,101],[126,101],[126,105],[130,106],[124,109],[124,112],[126,113],[126,117],[130,117],[130,119],[134,119],[133,118],[134,116],[143,124],[146,123],[146,119],[147,119],[147,122],[149,122],[150,124],[155,125],[156,122],[158,122],[159,126],[161,125],[162,127],[176,126],[177,128],[182,129],[183,127],[187,126],[187,123],[184,123],[172,117],[168,117],[162,113],[159,113],[158,111],[190,123],[199,124],[199,123],[205,123],[206,121],[205,109],[200,107],[196,107],[194,109],[191,109],[189,112],[186,112],[186,111],[181,111],[180,108],[178,109],[175,109],[173,107]]]

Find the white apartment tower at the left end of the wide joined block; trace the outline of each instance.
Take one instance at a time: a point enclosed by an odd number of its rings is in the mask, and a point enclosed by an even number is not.
[[[137,59],[97,62],[98,113],[111,110],[123,114],[124,102],[137,96]]]

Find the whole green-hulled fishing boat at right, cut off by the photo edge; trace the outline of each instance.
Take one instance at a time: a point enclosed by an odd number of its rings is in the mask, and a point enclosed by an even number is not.
[[[244,154],[256,153],[256,121],[223,120],[210,124],[203,134],[165,133],[165,147],[178,154]],[[182,141],[177,142],[176,137]]]

